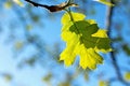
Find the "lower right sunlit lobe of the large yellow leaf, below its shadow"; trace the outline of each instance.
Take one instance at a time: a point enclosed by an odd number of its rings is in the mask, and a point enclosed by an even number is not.
[[[91,70],[94,70],[98,63],[103,62],[103,58],[93,48],[87,49],[86,46],[82,44],[77,49],[79,49],[79,64],[82,67],[82,69],[89,68]]]

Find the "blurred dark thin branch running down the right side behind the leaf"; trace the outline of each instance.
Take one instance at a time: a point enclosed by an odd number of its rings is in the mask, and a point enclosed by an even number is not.
[[[109,0],[112,3],[114,3],[114,1],[113,0]],[[108,9],[107,9],[107,18],[106,18],[106,29],[108,30],[108,37],[110,38],[110,39],[113,39],[113,37],[112,37],[112,25],[113,25],[113,20],[112,20],[112,17],[114,16],[114,6],[109,6]],[[114,49],[114,46],[113,46],[113,43],[112,43],[112,47],[113,47],[113,49]],[[116,74],[117,74],[117,77],[118,77],[118,80],[122,83],[122,84],[125,84],[126,86],[130,86],[130,84],[129,83],[127,83],[125,80],[123,80],[123,76],[121,75],[121,70],[120,70],[120,68],[119,68],[119,66],[118,66],[118,63],[117,63],[117,58],[116,58],[116,55],[115,55],[115,52],[112,52],[110,53],[110,58],[112,58],[112,61],[113,61],[113,66],[114,66],[114,68],[115,68],[115,71],[116,71]]]

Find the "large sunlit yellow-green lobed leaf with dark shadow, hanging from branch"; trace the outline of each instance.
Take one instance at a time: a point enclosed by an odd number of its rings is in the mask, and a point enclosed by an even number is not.
[[[99,52],[110,52],[110,41],[105,30],[100,30],[94,20],[86,20],[84,15],[72,13],[63,15],[62,39],[66,42],[66,48],[62,52],[60,60],[65,66],[74,63],[76,56],[80,56],[79,66],[82,69],[95,69],[98,63],[103,63]]]

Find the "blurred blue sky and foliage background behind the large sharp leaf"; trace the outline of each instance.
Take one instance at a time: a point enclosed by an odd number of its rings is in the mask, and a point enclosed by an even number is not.
[[[66,0],[32,0],[58,4]],[[25,0],[0,0],[0,86],[130,86],[130,0],[109,0],[109,8],[93,0],[74,0],[72,11],[95,19],[112,39],[113,53],[101,54],[96,70],[66,68],[60,61],[64,11],[50,13]]]

